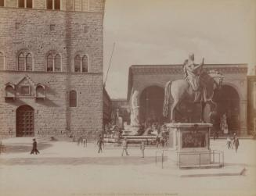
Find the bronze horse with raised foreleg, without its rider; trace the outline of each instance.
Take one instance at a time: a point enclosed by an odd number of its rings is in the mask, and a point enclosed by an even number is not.
[[[204,122],[205,105],[207,103],[216,105],[215,102],[212,101],[212,98],[215,90],[221,87],[222,80],[223,75],[222,73],[219,73],[218,70],[210,70],[208,73],[204,71],[200,74],[201,96],[199,102],[201,104],[200,122],[202,123]],[[175,109],[177,105],[184,99],[193,102],[195,98],[195,91],[193,91],[193,88],[187,80],[168,81],[168,83],[165,84],[164,92],[164,117],[168,116],[171,97],[173,98],[173,102],[171,104],[171,123],[174,123]]]

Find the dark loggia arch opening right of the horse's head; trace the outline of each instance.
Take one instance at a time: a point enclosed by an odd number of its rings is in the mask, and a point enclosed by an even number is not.
[[[225,84],[218,93],[215,94],[214,100],[217,102],[217,116],[219,122],[222,121],[223,115],[226,115],[229,134],[240,130],[240,97],[236,89]],[[221,134],[223,134],[221,127],[220,130]]]

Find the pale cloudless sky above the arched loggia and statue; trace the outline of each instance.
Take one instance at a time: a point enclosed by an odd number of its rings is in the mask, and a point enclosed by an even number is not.
[[[195,62],[256,66],[256,0],[106,0],[104,78],[126,98],[131,65]]]

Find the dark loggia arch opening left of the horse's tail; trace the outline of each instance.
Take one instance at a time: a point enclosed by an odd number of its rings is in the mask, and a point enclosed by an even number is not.
[[[162,123],[164,105],[164,88],[158,86],[146,87],[139,98],[140,123]]]

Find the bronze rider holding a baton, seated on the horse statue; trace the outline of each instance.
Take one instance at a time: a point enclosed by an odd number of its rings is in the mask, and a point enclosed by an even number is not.
[[[194,63],[194,54],[189,54],[189,59],[186,59],[184,62],[183,70],[185,73],[185,79],[191,85],[193,91],[195,91],[195,99],[194,102],[200,101],[200,95],[202,91],[202,87],[200,85],[200,74],[202,73],[204,65],[204,59],[199,65]]]

